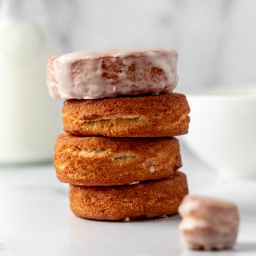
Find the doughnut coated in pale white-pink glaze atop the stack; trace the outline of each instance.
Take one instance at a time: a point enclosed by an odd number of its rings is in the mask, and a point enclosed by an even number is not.
[[[171,49],[108,49],[47,60],[53,98],[98,99],[172,92],[178,82],[178,54]]]

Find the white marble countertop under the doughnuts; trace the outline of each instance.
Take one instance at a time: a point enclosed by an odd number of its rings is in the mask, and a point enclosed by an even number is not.
[[[0,167],[1,256],[245,256],[256,255],[256,179],[219,178],[182,147],[190,194],[236,202],[241,224],[236,246],[189,251],[179,243],[178,215],[130,222],[81,219],[69,209],[68,185],[52,165]]]

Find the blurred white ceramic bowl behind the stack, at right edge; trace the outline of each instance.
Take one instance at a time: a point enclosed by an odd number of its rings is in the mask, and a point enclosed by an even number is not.
[[[184,141],[221,175],[256,177],[256,86],[187,94]]]

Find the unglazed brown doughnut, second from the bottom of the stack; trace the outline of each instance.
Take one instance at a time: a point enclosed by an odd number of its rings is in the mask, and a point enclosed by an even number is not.
[[[181,167],[175,138],[108,138],[61,134],[54,166],[62,182],[112,186],[173,175]]]

